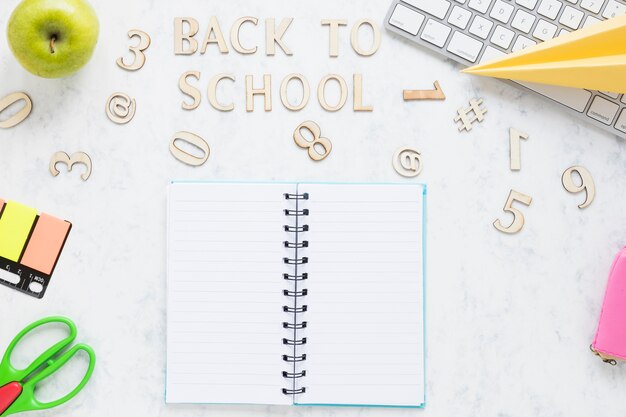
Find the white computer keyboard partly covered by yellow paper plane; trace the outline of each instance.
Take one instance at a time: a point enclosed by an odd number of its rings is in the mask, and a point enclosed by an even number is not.
[[[469,66],[622,14],[622,0],[394,0],[385,26]],[[626,139],[626,95],[514,84]]]

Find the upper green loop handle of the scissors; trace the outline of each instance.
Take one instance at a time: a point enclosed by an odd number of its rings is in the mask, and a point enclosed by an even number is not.
[[[69,329],[69,335],[65,339],[61,340],[60,342],[57,342],[56,344],[51,346],[49,349],[47,349],[45,352],[43,352],[41,355],[39,355],[39,357],[37,357],[37,359],[35,359],[33,363],[30,364],[30,366],[28,366],[26,369],[21,369],[21,370],[16,369],[11,364],[11,355],[13,354],[13,350],[15,349],[15,346],[17,346],[17,344],[28,333],[32,332],[38,327],[41,327],[46,324],[51,324],[51,323],[61,323],[61,324],[66,325]],[[45,365],[55,355],[57,355],[64,348],[69,346],[74,341],[74,339],[76,339],[76,325],[74,324],[72,320],[65,318],[65,317],[47,317],[41,320],[37,320],[36,322],[26,326],[26,328],[24,328],[24,330],[19,332],[17,336],[15,336],[13,341],[9,344],[9,347],[7,348],[2,358],[2,362],[0,362],[0,386],[9,382],[23,381],[27,376],[32,374],[35,370],[39,369],[41,366]]]

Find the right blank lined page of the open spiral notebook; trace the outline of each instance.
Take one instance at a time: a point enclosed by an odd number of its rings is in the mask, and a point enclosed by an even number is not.
[[[423,404],[423,190],[299,185],[310,231],[297,403]]]

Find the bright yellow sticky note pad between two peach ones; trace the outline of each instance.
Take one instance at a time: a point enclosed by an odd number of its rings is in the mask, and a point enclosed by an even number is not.
[[[0,256],[10,261],[20,259],[26,239],[37,218],[37,210],[9,201],[0,217]]]

